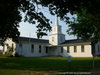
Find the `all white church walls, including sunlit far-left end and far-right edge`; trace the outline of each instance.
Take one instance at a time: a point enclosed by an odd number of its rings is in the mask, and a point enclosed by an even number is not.
[[[48,46],[48,43],[34,43],[34,42],[21,42],[22,47],[19,47],[19,44],[15,44],[12,42],[12,40],[7,40],[5,44],[9,44],[9,46],[12,46],[14,44],[14,48],[16,49],[16,52],[20,55],[23,55],[25,57],[40,57],[40,56],[48,56],[48,55],[61,55],[63,57],[67,57],[68,55],[72,57],[92,57],[92,49],[90,44],[84,44],[84,52],[81,52],[81,45],[76,44],[76,50],[77,52],[74,52],[74,45],[62,45],[62,46],[51,46],[48,49],[48,53],[46,53],[46,46]],[[31,45],[34,45],[34,52],[31,52]],[[41,53],[39,53],[39,45],[41,45]],[[96,54],[99,55],[100,52],[98,52],[98,45],[100,46],[100,42],[96,44]],[[69,46],[70,53],[67,53],[67,46]],[[61,47],[63,47],[63,53],[61,53]],[[5,45],[5,52],[7,50],[7,47]]]

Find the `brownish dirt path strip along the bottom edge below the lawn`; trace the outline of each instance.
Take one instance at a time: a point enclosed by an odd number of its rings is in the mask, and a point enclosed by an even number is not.
[[[68,74],[69,73],[69,74]],[[80,74],[80,72],[56,72],[56,71],[31,71],[31,72],[24,72],[20,73],[18,75],[100,75],[100,69],[94,69],[90,72],[82,72],[83,74]]]

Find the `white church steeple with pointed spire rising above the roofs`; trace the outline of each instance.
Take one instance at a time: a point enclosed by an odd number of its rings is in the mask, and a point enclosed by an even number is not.
[[[62,34],[61,26],[58,23],[58,16],[55,18],[55,25],[52,27],[52,33],[49,35],[49,44],[59,45],[65,41],[65,35]]]

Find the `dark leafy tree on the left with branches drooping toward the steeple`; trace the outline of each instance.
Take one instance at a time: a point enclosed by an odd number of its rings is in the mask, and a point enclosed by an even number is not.
[[[25,13],[25,22],[32,24],[38,22],[38,37],[39,34],[46,35],[44,32],[51,29],[49,19],[43,13],[36,11],[36,4],[36,0],[0,0],[0,38],[2,42],[7,38],[17,41],[20,35],[19,22],[22,19],[20,12]]]

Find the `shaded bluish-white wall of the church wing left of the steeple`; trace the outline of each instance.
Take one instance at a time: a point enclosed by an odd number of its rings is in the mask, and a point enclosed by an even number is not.
[[[34,45],[34,52],[31,51],[31,45]],[[39,45],[41,45],[41,53],[39,53]],[[46,45],[43,43],[22,43],[22,47],[17,44],[16,52],[25,57],[40,57],[46,56]]]

